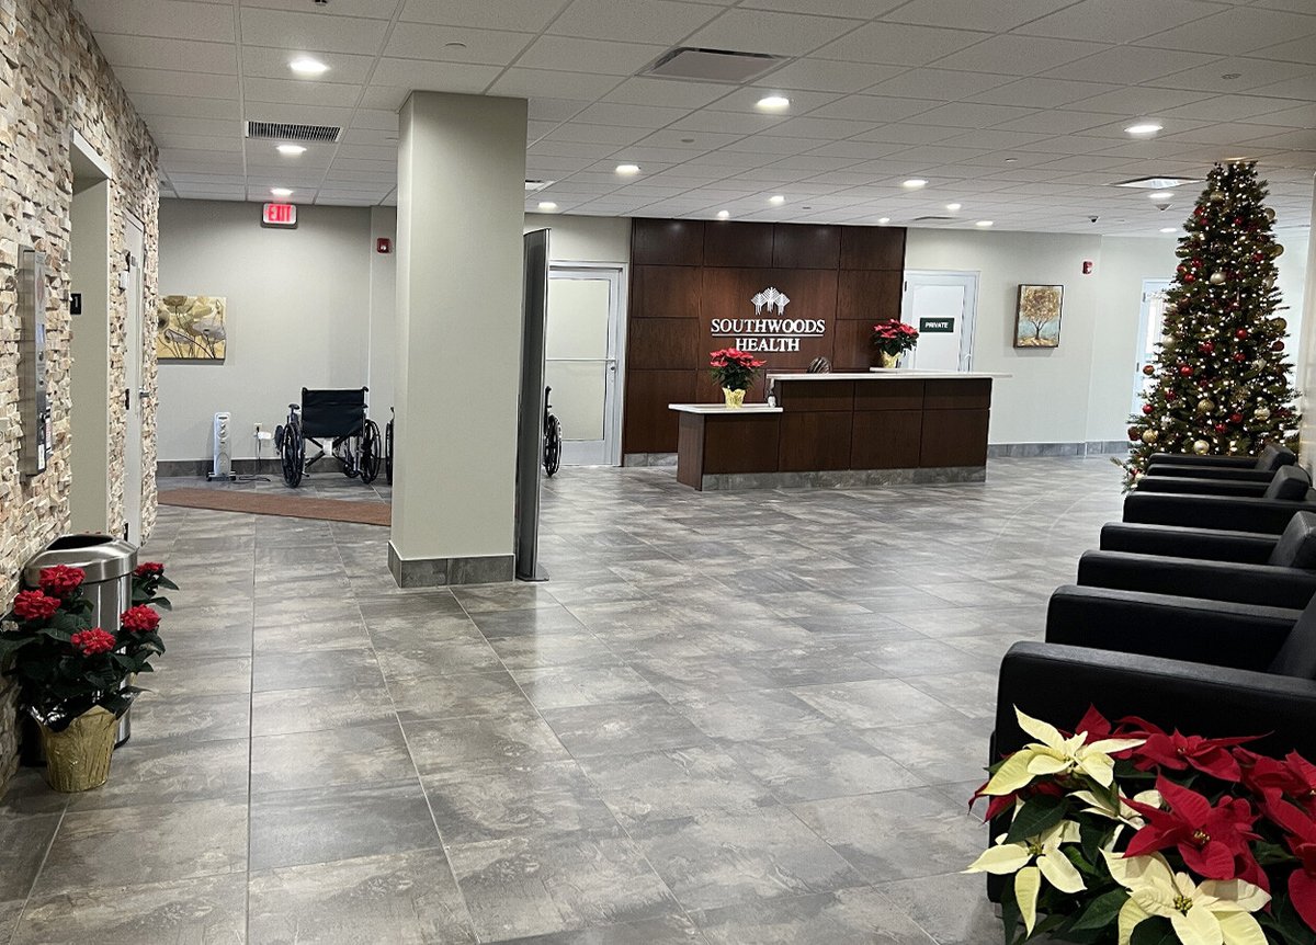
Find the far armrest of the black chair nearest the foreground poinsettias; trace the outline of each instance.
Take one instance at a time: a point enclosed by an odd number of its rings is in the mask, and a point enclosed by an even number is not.
[[[1266,671],[1302,611],[1167,594],[1061,587],[1046,642]]]

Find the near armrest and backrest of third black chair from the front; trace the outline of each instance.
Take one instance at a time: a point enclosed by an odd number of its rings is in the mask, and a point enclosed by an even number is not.
[[[1146,482],[1146,480],[1144,480]],[[1134,490],[1124,499],[1124,521],[1279,534],[1294,512],[1316,512],[1316,490],[1305,471],[1286,466],[1259,496],[1175,495]]]

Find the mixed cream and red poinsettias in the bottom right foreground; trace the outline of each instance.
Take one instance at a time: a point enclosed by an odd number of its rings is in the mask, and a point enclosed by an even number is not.
[[[1312,945],[1316,766],[1095,708],[990,769],[1007,945]]]

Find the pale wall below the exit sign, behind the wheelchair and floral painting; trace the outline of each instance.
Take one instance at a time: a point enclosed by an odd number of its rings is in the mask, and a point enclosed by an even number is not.
[[[161,461],[207,458],[217,411],[233,457],[254,457],[254,424],[272,430],[303,387],[366,384],[368,209],[299,207],[293,230],[262,228],[249,203],[162,200],[159,215],[161,295],[228,299],[222,363],[159,366]]]

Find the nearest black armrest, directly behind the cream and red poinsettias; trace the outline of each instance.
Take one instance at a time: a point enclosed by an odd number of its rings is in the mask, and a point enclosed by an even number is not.
[[[1166,730],[1227,738],[1263,736],[1249,748],[1316,750],[1316,682],[1080,646],[1021,642],[1000,665],[995,744],[999,757],[1032,737],[1013,707],[1061,728],[1088,705],[1107,719],[1136,715]]]

